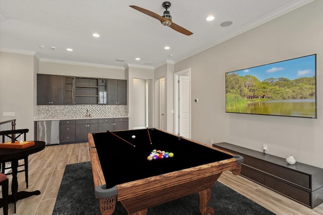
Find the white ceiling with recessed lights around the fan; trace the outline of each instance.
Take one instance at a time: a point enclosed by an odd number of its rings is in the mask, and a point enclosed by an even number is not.
[[[129,7],[135,5],[163,15],[163,0],[0,0],[0,50],[35,53],[40,61],[156,68],[167,61],[176,63],[311,1],[170,1],[173,22],[193,32],[186,36]],[[208,15],[216,19],[207,22]],[[221,27],[225,21],[233,24]],[[99,38],[92,36],[95,32]],[[170,49],[165,50],[165,46]]]

